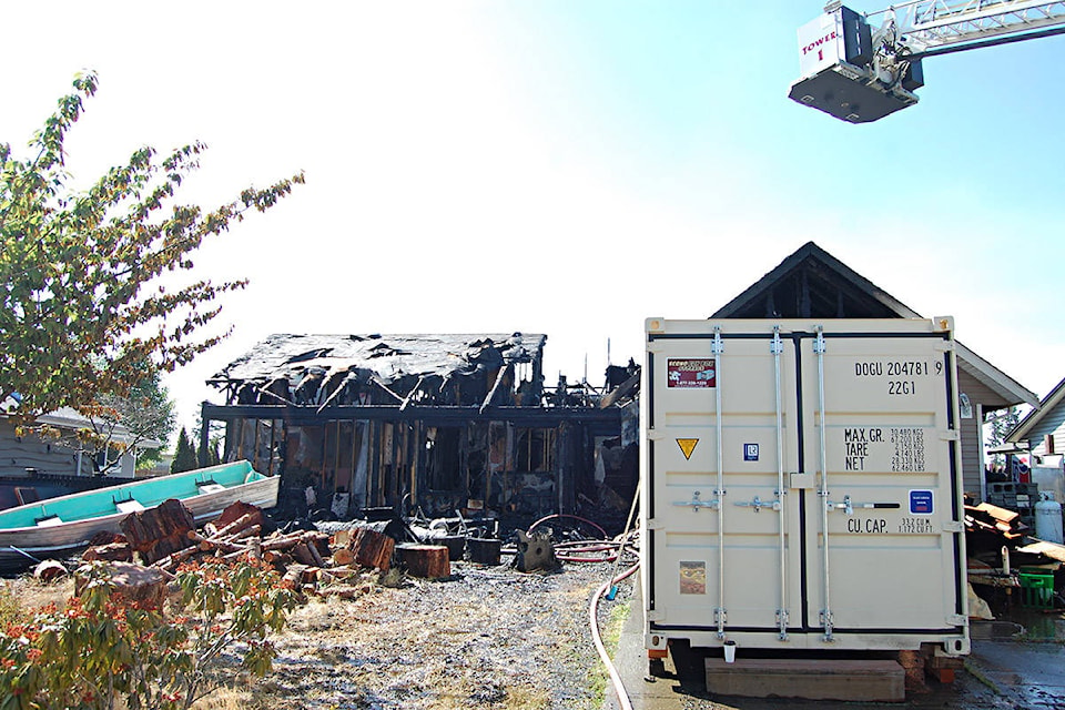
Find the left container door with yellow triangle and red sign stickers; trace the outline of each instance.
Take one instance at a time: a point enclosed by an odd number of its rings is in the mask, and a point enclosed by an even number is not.
[[[797,345],[778,335],[649,345],[652,629],[785,637],[801,620]]]

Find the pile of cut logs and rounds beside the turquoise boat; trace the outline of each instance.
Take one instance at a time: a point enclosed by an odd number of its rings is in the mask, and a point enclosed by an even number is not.
[[[168,500],[130,514],[121,524],[124,535],[93,538],[82,559],[119,565],[135,560],[166,578],[187,561],[257,559],[274,567],[290,589],[338,597],[354,597],[372,588],[362,575],[387,571],[395,562],[414,577],[450,576],[447,547],[397,546],[394,521],[365,523],[332,537],[318,530],[264,535],[267,526],[260,508],[236,503],[196,529],[187,508],[179,500]]]

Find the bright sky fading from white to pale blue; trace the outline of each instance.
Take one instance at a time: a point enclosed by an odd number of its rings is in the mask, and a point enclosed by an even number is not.
[[[916,106],[852,125],[787,98],[822,4],[11,3],[0,142],[92,69],[75,181],[197,140],[183,202],[304,171],[193,255],[251,283],[222,302],[232,335],[166,377],[190,428],[273,333],[546,333],[548,385],[601,385],[646,317],[706,317],[808,241],[1046,395],[1065,37],[929,59]]]

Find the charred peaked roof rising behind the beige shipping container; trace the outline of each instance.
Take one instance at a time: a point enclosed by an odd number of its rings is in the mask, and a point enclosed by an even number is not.
[[[920,318],[916,311],[856,271],[807,242],[775,268],[719,308],[711,318]],[[1038,397],[955,342],[957,366],[1002,398],[1002,406]]]

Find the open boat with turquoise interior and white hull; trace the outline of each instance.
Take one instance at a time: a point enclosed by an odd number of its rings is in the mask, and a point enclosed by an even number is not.
[[[219,517],[237,500],[272,508],[277,505],[280,480],[239,460],[0,510],[0,572],[68,557],[88,547],[98,532],[121,532],[128,515],[171,498],[181,500],[197,525]]]

